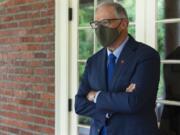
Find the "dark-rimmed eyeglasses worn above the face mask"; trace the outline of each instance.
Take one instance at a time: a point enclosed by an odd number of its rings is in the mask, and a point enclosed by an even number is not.
[[[112,23],[112,21],[121,20],[121,19],[124,19],[124,18],[114,18],[114,19],[104,19],[101,21],[92,21],[92,22],[90,22],[90,25],[91,25],[92,29],[96,29],[100,25],[109,26]]]

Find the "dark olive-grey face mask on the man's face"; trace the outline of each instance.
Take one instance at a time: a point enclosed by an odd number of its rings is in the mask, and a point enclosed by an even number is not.
[[[100,25],[95,29],[96,37],[103,47],[111,46],[112,43],[119,37],[120,32],[116,28],[109,28]]]

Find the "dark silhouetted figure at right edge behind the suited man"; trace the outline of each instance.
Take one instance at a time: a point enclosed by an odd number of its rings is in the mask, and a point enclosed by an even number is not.
[[[180,46],[166,57],[167,60],[180,60]],[[180,101],[180,64],[163,65],[167,100]],[[160,121],[161,135],[180,135],[180,107],[164,106]]]

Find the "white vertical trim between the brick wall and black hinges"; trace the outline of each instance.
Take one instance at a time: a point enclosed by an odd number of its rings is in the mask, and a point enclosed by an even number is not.
[[[68,128],[68,0],[55,0],[55,135]]]

